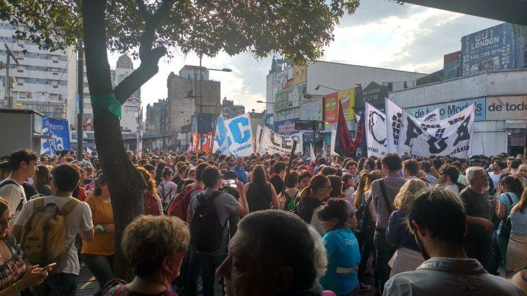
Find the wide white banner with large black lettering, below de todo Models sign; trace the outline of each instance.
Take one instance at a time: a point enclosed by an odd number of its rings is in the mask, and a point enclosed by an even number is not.
[[[412,158],[455,156],[468,158],[471,150],[476,105],[465,108],[443,121],[428,123],[414,119],[403,110],[397,153]]]

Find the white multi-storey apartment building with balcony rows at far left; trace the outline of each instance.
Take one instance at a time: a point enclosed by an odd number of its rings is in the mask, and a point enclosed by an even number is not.
[[[73,48],[64,51],[38,49],[30,39],[14,39],[15,31],[25,31],[23,25],[11,25],[0,21],[0,42],[4,43],[18,60],[10,58],[9,73],[14,77],[11,96],[15,108],[32,109],[55,119],[70,119],[75,114],[77,90],[75,64],[77,53]],[[0,100],[2,107],[9,106],[5,82],[7,50],[0,46]]]

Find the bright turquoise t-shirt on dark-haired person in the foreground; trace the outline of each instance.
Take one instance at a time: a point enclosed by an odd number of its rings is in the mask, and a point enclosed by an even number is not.
[[[349,228],[339,228],[327,232],[323,240],[327,251],[327,271],[320,277],[320,284],[324,290],[331,290],[337,295],[348,294],[359,284],[356,269],[360,263],[360,251],[357,238]],[[353,268],[353,273],[340,270]]]

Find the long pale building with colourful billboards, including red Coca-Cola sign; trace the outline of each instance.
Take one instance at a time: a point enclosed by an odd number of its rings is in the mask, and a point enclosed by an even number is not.
[[[273,60],[267,75],[266,125],[282,135],[294,135],[297,119],[324,120],[334,124],[341,101],[349,130],[354,133],[355,113],[364,109],[364,101],[383,100],[388,90],[382,84],[415,80],[426,74],[382,69],[336,62],[308,61],[295,65],[287,60]],[[363,91],[364,88],[364,91]],[[331,99],[331,103],[329,103]],[[331,125],[325,131],[302,132],[303,142],[331,142]],[[316,137],[316,139],[314,139]],[[306,149],[309,145],[303,145]]]

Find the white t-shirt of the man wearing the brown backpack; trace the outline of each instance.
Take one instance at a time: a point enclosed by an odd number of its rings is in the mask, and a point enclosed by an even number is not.
[[[73,197],[40,197],[44,199],[44,207],[47,204],[56,204],[58,208],[66,206],[66,204],[73,199]],[[22,226],[24,220],[29,217],[33,212],[33,206],[37,199],[32,199],[25,204],[22,210],[14,219],[14,225]],[[80,271],[79,258],[77,256],[77,248],[75,247],[75,236],[77,236],[80,230],[88,231],[93,228],[93,220],[91,218],[90,206],[84,201],[80,201],[80,204],[73,207],[71,212],[64,218],[66,228],[65,238],[65,249],[69,248],[68,257],[66,259],[66,265],[60,273],[71,273],[78,275]]]

